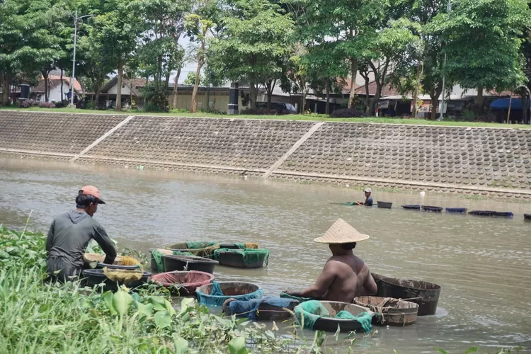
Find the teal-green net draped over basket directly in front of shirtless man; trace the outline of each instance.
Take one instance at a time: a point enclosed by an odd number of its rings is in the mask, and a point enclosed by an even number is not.
[[[317,300],[309,300],[302,302],[302,304],[295,307],[295,316],[299,324],[304,324],[306,329],[314,329],[315,322],[321,317],[330,317],[329,311],[324,305]],[[363,331],[369,332],[372,329],[372,314],[369,312],[362,312],[355,316],[348,311],[340,311],[335,319],[355,319],[362,326]]]

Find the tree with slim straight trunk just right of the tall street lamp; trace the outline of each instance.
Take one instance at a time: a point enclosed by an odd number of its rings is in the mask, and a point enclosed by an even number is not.
[[[103,64],[118,69],[116,110],[122,110],[122,76],[125,65],[135,55],[138,38],[145,24],[139,16],[139,4],[127,0],[110,0],[107,12],[94,19],[96,47],[101,51]]]

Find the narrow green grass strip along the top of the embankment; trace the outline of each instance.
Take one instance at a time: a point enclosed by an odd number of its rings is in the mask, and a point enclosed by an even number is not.
[[[353,122],[353,123],[377,123],[377,124],[408,124],[408,125],[440,125],[452,127],[497,127],[497,128],[518,128],[531,129],[531,125],[521,124],[498,124],[485,122],[455,122],[426,120],[426,119],[409,119],[409,118],[330,118],[328,115],[215,115],[211,113],[145,113],[138,111],[122,111],[115,112],[114,110],[81,110],[72,108],[8,108],[2,107],[0,109],[15,109],[15,110],[31,110],[39,112],[62,112],[62,113],[97,113],[97,114],[122,114],[122,115],[162,115],[171,117],[191,117],[191,118],[239,118],[239,119],[264,119],[264,120],[310,120],[314,122]]]

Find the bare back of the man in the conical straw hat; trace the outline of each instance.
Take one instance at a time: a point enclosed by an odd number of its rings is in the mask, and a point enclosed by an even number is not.
[[[369,275],[369,268],[360,258],[353,254],[346,256],[332,256],[326,262],[327,267],[333,269],[336,278],[331,283],[324,296],[330,301],[352,302],[354,297],[360,296],[363,285]]]

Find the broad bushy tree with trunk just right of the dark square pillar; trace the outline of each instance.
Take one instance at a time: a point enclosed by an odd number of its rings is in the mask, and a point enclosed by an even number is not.
[[[232,81],[249,81],[251,107],[258,84],[282,76],[282,58],[290,51],[293,21],[280,6],[265,0],[229,1],[222,30],[210,45],[215,72]]]

